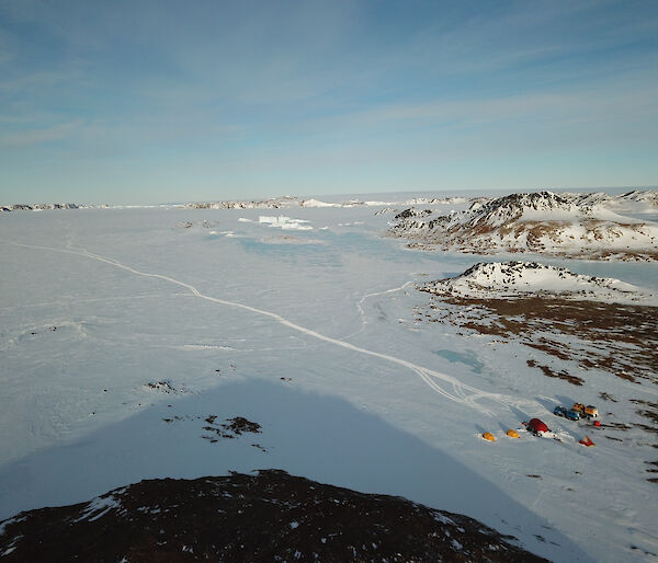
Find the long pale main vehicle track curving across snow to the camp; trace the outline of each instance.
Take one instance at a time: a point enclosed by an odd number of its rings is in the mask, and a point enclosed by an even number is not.
[[[514,399],[510,395],[504,395],[502,393],[494,393],[494,392],[489,392],[489,391],[483,391],[481,389],[478,389],[476,387],[472,387],[466,383],[463,383],[458,379],[456,379],[452,376],[449,376],[446,374],[442,374],[440,371],[436,371],[436,370],[433,370],[430,368],[426,368],[423,366],[419,366],[417,364],[407,361],[407,360],[398,358],[396,356],[392,356],[389,354],[383,354],[381,352],[375,352],[375,351],[371,351],[367,348],[363,348],[361,346],[355,346],[354,344],[350,344],[349,342],[344,342],[344,341],[341,341],[338,338],[332,338],[331,336],[321,334],[317,331],[314,331],[313,329],[307,329],[305,326],[302,326],[300,324],[294,323],[294,322],[290,321],[288,319],[286,319],[285,317],[282,317],[277,313],[273,313],[271,311],[265,311],[264,309],[258,309],[258,308],[251,307],[249,305],[239,303],[236,301],[227,301],[226,299],[206,296],[206,295],[202,294],[198,289],[196,289],[194,286],[192,286],[191,284],[186,284],[185,282],[180,282],[179,279],[175,279],[170,276],[166,276],[163,274],[152,274],[149,272],[141,272],[137,268],[134,268],[132,266],[123,264],[123,263],[118,262],[117,260],[101,256],[99,254],[89,252],[84,249],[77,251],[77,250],[72,250],[70,248],[69,249],[58,249],[58,248],[53,248],[53,246],[23,244],[23,243],[19,243],[19,242],[12,242],[11,244],[16,245],[16,246],[22,246],[25,249],[45,250],[45,251],[49,251],[49,252],[73,254],[73,255],[79,255],[79,256],[83,256],[83,257],[91,258],[91,260],[97,260],[99,262],[104,262],[105,264],[110,264],[114,267],[125,269],[126,272],[131,272],[132,274],[135,274],[138,276],[150,277],[150,278],[155,278],[155,279],[162,279],[164,282],[169,282],[169,283],[178,285],[180,287],[184,287],[194,297],[204,299],[206,301],[223,305],[226,307],[232,307],[236,309],[242,309],[245,311],[250,311],[252,313],[260,314],[262,317],[269,317],[269,318],[273,319],[274,321],[279,322],[280,324],[287,326],[288,329],[300,332],[300,333],[311,336],[314,338],[327,342],[329,344],[333,344],[336,346],[340,346],[342,348],[347,348],[352,352],[356,352],[359,354],[364,354],[364,355],[372,356],[375,358],[384,359],[384,360],[390,361],[393,364],[397,364],[399,366],[406,367],[407,369],[409,369],[412,372],[415,372],[416,375],[418,375],[428,384],[428,387],[430,387],[433,391],[435,391],[440,395],[444,397],[445,399],[450,399],[451,401],[454,401],[455,403],[458,403],[464,406],[479,411],[481,414],[485,414],[485,415],[495,416],[494,412],[491,412],[490,410],[488,410],[487,407],[485,407],[478,403],[478,401],[480,401],[480,400],[492,401],[492,402],[500,403],[508,407],[511,405],[511,406],[515,406],[518,409],[527,409],[527,410],[536,410],[537,406],[541,406],[535,401],[519,400],[519,399]],[[70,243],[69,243],[69,245],[70,245]],[[398,289],[400,289],[400,288],[396,288],[394,290],[398,290]],[[385,292],[389,292],[389,291],[393,291],[393,290],[388,290]],[[450,388],[452,388],[452,392],[449,391],[447,389],[445,389],[444,387],[442,387],[439,383],[440,381],[450,386]]]

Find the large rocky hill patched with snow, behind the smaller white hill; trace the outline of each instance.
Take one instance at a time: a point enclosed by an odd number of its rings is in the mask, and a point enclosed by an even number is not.
[[[552,192],[476,200],[450,215],[407,209],[389,229],[417,241],[476,254],[535,252],[601,260],[658,260],[658,225],[615,214],[591,197]]]

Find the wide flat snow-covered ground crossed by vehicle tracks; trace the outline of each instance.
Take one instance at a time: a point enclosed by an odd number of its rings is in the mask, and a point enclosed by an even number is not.
[[[479,260],[382,238],[378,209],[2,214],[0,519],[145,478],[281,468],[466,514],[555,561],[655,556],[657,435],[605,439],[551,412],[633,422],[656,386],[594,370],[574,387],[519,343],[420,322],[415,286]],[[544,262],[658,290],[656,264]],[[212,416],[262,433],[212,441]],[[535,416],[561,441],[504,435]]]

